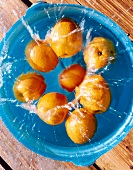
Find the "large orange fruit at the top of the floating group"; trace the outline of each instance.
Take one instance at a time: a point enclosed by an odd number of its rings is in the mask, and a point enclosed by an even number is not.
[[[47,40],[60,58],[69,58],[82,49],[82,32],[79,25],[69,18],[60,19],[52,28]]]

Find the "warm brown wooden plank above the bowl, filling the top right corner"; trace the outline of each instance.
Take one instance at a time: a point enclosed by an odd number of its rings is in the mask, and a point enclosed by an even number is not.
[[[35,3],[37,0],[31,0]],[[133,1],[132,0],[45,0],[48,3],[81,4],[96,9],[114,20],[133,41]]]

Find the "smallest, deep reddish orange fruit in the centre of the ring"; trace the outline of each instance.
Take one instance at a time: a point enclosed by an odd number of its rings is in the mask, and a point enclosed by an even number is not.
[[[82,82],[85,73],[86,71],[81,65],[73,64],[61,72],[59,83],[62,88],[72,92]]]

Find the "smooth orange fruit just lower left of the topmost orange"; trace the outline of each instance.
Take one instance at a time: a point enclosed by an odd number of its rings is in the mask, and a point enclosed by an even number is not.
[[[25,54],[30,66],[41,72],[49,72],[58,64],[58,57],[47,42],[32,40],[27,45]]]

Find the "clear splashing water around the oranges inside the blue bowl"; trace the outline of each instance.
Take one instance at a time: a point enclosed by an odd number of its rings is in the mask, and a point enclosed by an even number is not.
[[[106,113],[96,115],[98,120],[97,132],[90,142],[84,145],[92,146],[94,143],[100,143],[121,127],[131,109],[131,87],[133,83],[131,71],[133,66],[125,45],[119,37],[112,33],[110,26],[108,29],[100,21],[95,20],[99,16],[94,10],[88,12],[86,9],[70,6],[54,6],[53,10],[50,6],[46,9],[39,6],[34,7],[33,11],[32,17],[26,15],[20,19],[1,43],[1,105],[6,108],[4,114],[7,114],[10,124],[15,124],[15,129],[18,131],[17,136],[20,140],[28,136],[37,139],[36,142],[38,143],[41,141],[41,143],[49,146],[77,147],[77,144],[74,144],[66,134],[65,122],[57,126],[45,124],[35,114],[37,101],[32,104],[22,104],[14,98],[12,90],[15,80],[20,74],[34,71],[26,61],[25,48],[27,44],[32,38],[45,39],[46,34],[59,19],[63,17],[71,18],[82,29],[84,46],[94,37],[102,36],[112,40],[116,48],[117,58],[115,63],[100,70],[111,89],[111,105]],[[77,13],[80,14],[79,17],[77,17]],[[111,27],[114,29],[115,25],[112,24]],[[45,93],[55,91],[65,94],[69,102],[74,99],[74,92],[67,92],[60,87],[58,75],[71,64],[79,63],[86,68],[82,52],[68,59],[60,59],[57,67],[49,73],[36,71],[45,77],[47,84]]]

